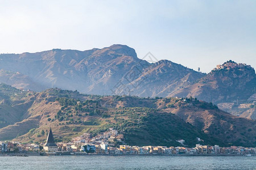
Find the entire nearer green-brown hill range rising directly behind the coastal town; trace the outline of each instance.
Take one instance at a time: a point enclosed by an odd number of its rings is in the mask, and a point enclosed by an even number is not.
[[[51,88],[43,92],[0,86],[0,140],[43,142],[50,126],[56,141],[112,127],[129,145],[256,146],[255,120],[232,116],[204,101],[181,98],[98,96]],[[19,111],[19,112],[13,112]],[[15,118],[15,119],[14,119]]]

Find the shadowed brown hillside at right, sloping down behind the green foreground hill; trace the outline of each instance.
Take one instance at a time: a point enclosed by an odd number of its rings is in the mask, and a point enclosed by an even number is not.
[[[223,143],[229,141],[232,145],[238,146],[249,140],[247,142],[254,143],[255,145],[255,135],[250,133],[256,128],[255,120],[249,121],[245,118],[233,116],[221,111],[212,103],[206,103],[193,98],[181,100],[172,99],[168,103],[164,99],[165,102],[163,101],[163,104],[159,105],[158,108],[174,113],[184,121],[203,130],[209,136],[218,138]],[[164,103],[166,103],[165,106],[167,108],[164,107]]]

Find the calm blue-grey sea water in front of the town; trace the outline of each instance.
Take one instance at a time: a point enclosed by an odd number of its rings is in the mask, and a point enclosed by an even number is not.
[[[256,169],[256,157],[1,156],[0,169]]]

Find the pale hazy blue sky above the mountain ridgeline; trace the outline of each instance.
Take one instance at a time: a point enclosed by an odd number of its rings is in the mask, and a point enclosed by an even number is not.
[[[209,72],[256,68],[256,1],[2,1],[0,53],[112,44]]]

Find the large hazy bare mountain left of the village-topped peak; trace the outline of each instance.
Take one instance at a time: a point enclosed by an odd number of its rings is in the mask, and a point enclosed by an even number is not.
[[[12,81],[0,79],[14,87],[33,91],[58,87],[96,95],[167,96],[205,75],[167,60],[148,63],[126,45],[0,54],[0,67],[24,76],[20,79],[16,74],[10,75]]]

